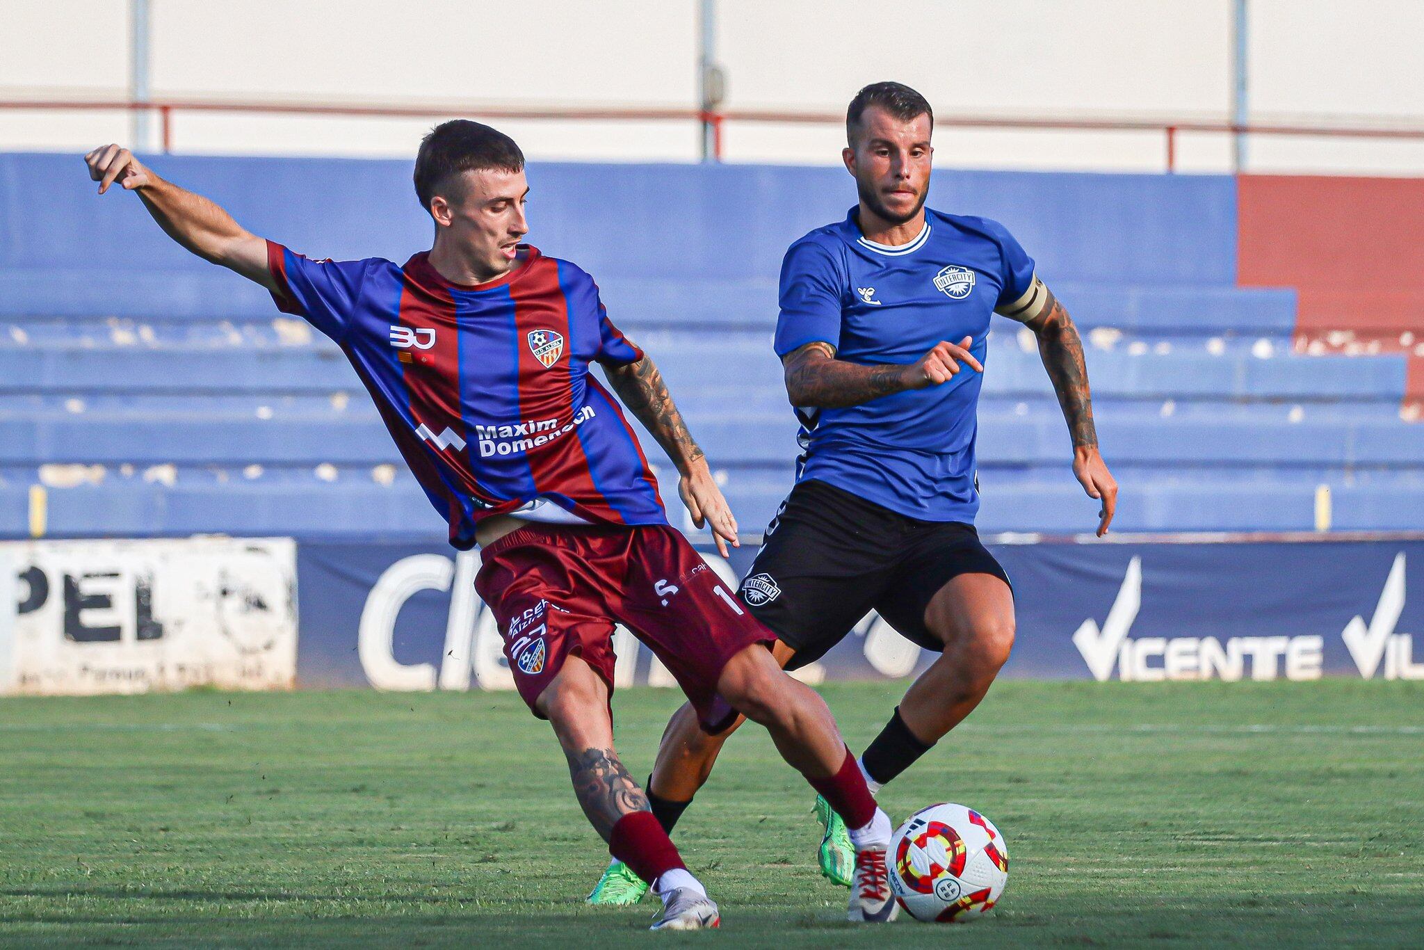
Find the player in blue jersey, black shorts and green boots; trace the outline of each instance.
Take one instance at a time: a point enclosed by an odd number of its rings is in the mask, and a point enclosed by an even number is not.
[[[871,610],[940,652],[859,761],[873,790],[978,705],[1014,642],[1008,575],[974,530],[975,406],[994,313],[1038,338],[1074,474],[1101,503],[1099,536],[1118,494],[1098,454],[1082,343],[1032,258],[997,221],[924,207],[933,127],[914,90],[863,88],[843,152],[860,201],[786,252],[775,348],[805,453],[740,590],[789,669]],[[731,732],[701,732],[689,706],[668,724],[646,790],[669,832]],[[822,873],[849,884],[849,840],[824,800],[817,815]],[[642,890],[614,863],[590,900]]]

